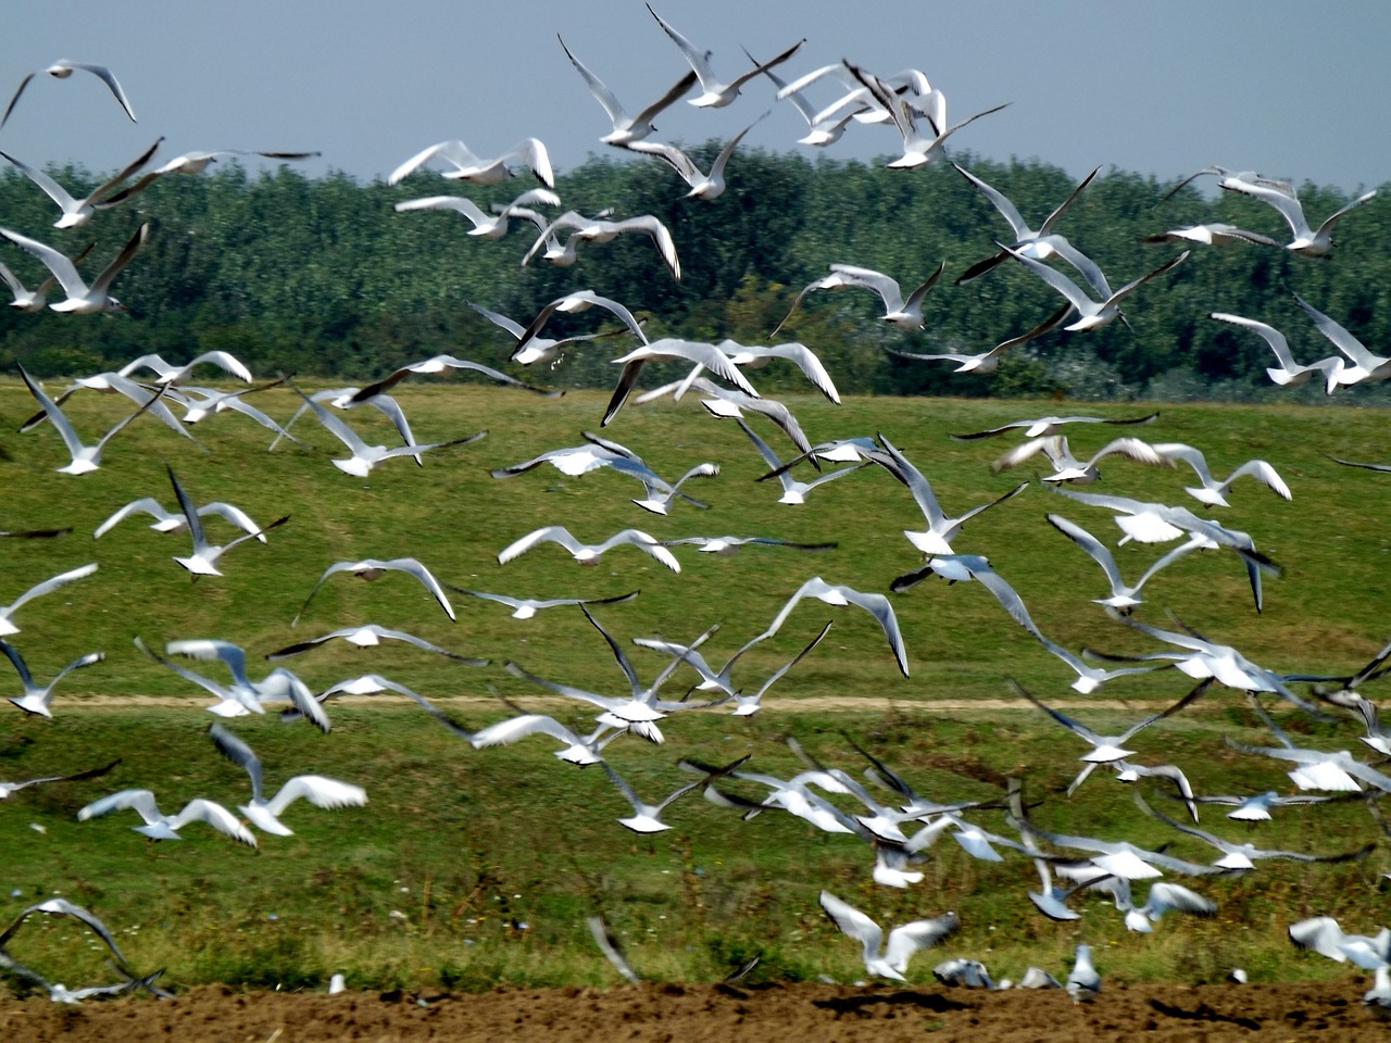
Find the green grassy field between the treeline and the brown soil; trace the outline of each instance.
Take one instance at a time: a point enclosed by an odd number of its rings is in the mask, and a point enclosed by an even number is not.
[[[601,395],[544,401],[458,385],[403,387],[401,392],[420,441],[480,428],[490,434],[477,445],[427,456],[421,469],[395,460],[367,480],[334,469],[331,439],[309,424],[296,428],[309,448],[282,445],[267,453],[268,435],[231,414],[193,428],[206,453],[142,417],[113,439],[103,467],[82,478],[54,473],[65,458],[50,430],[0,441],[7,455],[0,462],[0,527],[74,528],[54,541],[0,541],[0,601],[64,569],[100,563],[95,576],[21,608],[22,631],[13,644],[40,677],[83,652],[107,654],[100,666],[64,680],[51,722],[17,711],[3,719],[0,779],[65,773],[122,758],[103,780],[24,790],[0,808],[0,896],[18,891],[0,900],[0,914],[61,891],[103,916],[139,967],[167,965],[170,978],[184,985],[227,980],[282,987],[317,985],[339,969],[353,985],[383,987],[605,983],[613,975],[584,930],[584,916],[594,911],[604,912],[629,946],[634,967],[648,978],[718,978],[753,951],[764,953],[758,973],[765,976],[857,978],[862,968],[854,944],[836,935],[817,907],[821,887],[893,922],[954,908],[963,932],[943,953],[974,955],[992,972],[1014,976],[1031,962],[1064,965],[1077,941],[1097,947],[1104,973],[1132,979],[1212,980],[1235,964],[1267,978],[1342,973],[1321,958],[1294,953],[1284,926],[1330,912],[1342,915],[1349,929],[1374,929],[1369,909],[1384,901],[1381,851],[1351,865],[1264,864],[1245,879],[1200,883],[1199,890],[1221,903],[1217,919],[1166,921],[1153,937],[1127,936],[1118,914],[1100,900],[1089,900],[1084,919],[1074,925],[1043,919],[1024,897],[1038,883],[1028,862],[971,862],[950,840],[933,848],[928,879],[900,894],[869,882],[872,859],[861,843],[814,836],[771,812],[743,823],[733,812],[687,798],[672,807],[670,832],[636,837],[613,822],[626,805],[600,769],[580,772],[561,763],[540,740],[476,752],[419,711],[389,702],[332,708],[330,736],[273,718],[234,722],[260,754],[273,786],[291,773],[314,772],[359,783],[370,795],[362,809],[328,814],[296,807],[287,815],[295,836],[263,837],[259,851],[198,827],[182,843],[153,846],[128,829],[132,822],[125,816],[77,823],[77,808],[118,787],[152,789],[166,809],[195,795],[228,805],[245,800],[245,777],[216,755],[203,734],[211,720],[202,712],[206,698],[142,656],[132,647],[136,636],[152,647],[221,637],[259,661],[303,637],[377,622],[492,665],[470,669],[412,648],[363,651],[345,644],[285,665],[316,688],[369,670],[384,673],[445,705],[452,697],[488,697],[494,688],[541,705],[538,697],[545,693],[504,672],[506,661],[542,677],[622,691],[608,648],[577,612],[551,611],[517,622],[502,606],[459,595],[453,599],[458,623],[449,623],[417,584],[396,574],[374,584],[334,577],[291,629],[291,617],[335,560],[416,556],[445,583],[538,597],[605,597],[641,588],[634,601],[598,612],[611,633],[625,644],[651,634],[683,641],[719,623],[704,649],[712,661],[759,633],[812,574],[885,590],[890,579],[921,560],[900,534],[921,519],[904,490],[882,470],[832,483],[805,506],[778,505],[776,491],[754,481],[762,466],[739,428],[715,421],[690,401],[630,405],[605,431],[662,474],[679,474],[700,460],[722,466],[719,478],[689,487],[711,503],[709,510],[677,505],[664,519],[629,503],[636,483],[606,471],[568,478],[547,467],[506,481],[488,476],[490,467],[579,444],[580,431],[597,427]],[[259,405],[273,416],[294,410],[288,392],[264,392],[262,399]],[[990,473],[989,462],[1007,445],[1003,439],[954,442],[949,432],[1021,416],[1088,412],[1071,403],[1060,410],[1056,403],[942,399],[857,399],[842,407],[811,398],[789,403],[812,439],[883,431],[929,477],[949,512],[1031,477]],[[71,401],[81,431],[114,423],[122,409],[120,401],[97,395]],[[0,387],[0,430],[13,431],[31,412],[22,388]],[[1099,406],[1097,412],[1148,410],[1136,405]],[[387,441],[376,416],[352,420],[380,430]],[[1239,562],[1212,552],[1191,555],[1153,580],[1146,588],[1153,601],[1136,616],[1168,626],[1164,609],[1171,609],[1209,637],[1280,672],[1359,668],[1385,640],[1383,556],[1391,544],[1383,519],[1391,485],[1384,476],[1338,467],[1326,453],[1380,460],[1383,427],[1384,417],[1370,410],[1164,406],[1156,424],[1139,430],[1142,437],[1196,445],[1219,470],[1264,456],[1285,476],[1295,499],[1287,503],[1242,484],[1232,495],[1237,506],[1220,516],[1249,531],[1284,566],[1281,577],[1267,580],[1263,615],[1252,608]],[[780,437],[766,431],[765,437],[783,451]],[[1100,445],[1104,438],[1082,430],[1074,435],[1075,448]],[[161,535],[132,519],[92,542],[92,530],[129,499],[153,495],[172,505],[166,462],[199,502],[227,499],[263,524],[285,513],[291,522],[266,547],[234,549],[224,559],[225,577],[196,583],[171,560],[174,553],[186,553],[186,535]],[[1127,462],[1103,470],[1103,481],[1093,488],[1142,499],[1177,503],[1182,485],[1192,484],[1182,473]],[[1114,542],[1103,512],[1064,501],[1035,483],[1024,496],[972,520],[957,549],[986,553],[1059,642],[1146,648],[1089,602],[1104,594],[1100,573],[1046,524],[1043,515],[1050,510]],[[677,548],[679,576],[632,549],[605,556],[597,569],[581,569],[554,547],[505,567],[497,565],[504,545],[556,522],[586,540],[633,526],[658,538],[734,533],[839,540],[840,547],[822,555],[751,548],[734,559],[714,560]],[[1129,576],[1157,555],[1152,548],[1127,547],[1118,556]],[[1007,698],[1007,677],[1047,701],[1077,698],[1067,687],[1070,672],[1008,620],[986,591],[933,581],[893,604],[908,647],[910,680],[896,670],[867,613],[804,604],[775,640],[740,661],[736,674],[757,684],[826,619],[835,619],[822,647],[773,688],[772,697],[790,705],[779,702],[751,720],[719,711],[679,715],[664,722],[666,745],[620,740],[611,747],[611,759],[644,795],[689,779],[676,769],[682,755],[734,759],[751,754],[758,770],[793,772],[796,762],[782,744],[789,734],[819,757],[858,770],[858,757],[840,734],[844,730],[933,797],[988,798],[997,790],[970,773],[1020,775],[1034,798],[1046,798],[1035,811],[1045,825],[1155,844],[1174,840],[1139,814],[1128,789],[1110,779],[1097,777],[1074,800],[1063,798],[1059,790],[1075,775],[1082,750],[1043,715],[932,712],[932,704],[944,700]],[[651,652],[634,648],[630,655],[644,679],[659,669]],[[1149,712],[1155,701],[1185,690],[1187,679],[1173,673],[1123,679],[1096,698],[1134,701],[1132,712],[1074,713],[1099,729],[1120,727]],[[90,697],[100,695],[156,695],[188,705],[111,709],[90,704]],[[869,709],[851,704],[837,713],[796,708],[797,700],[826,697],[875,701]],[[889,709],[883,700],[892,700]],[[472,702],[458,706],[470,726],[505,712]],[[583,720],[577,708],[561,713],[574,723]],[[1351,725],[1287,723],[1327,748],[1359,745]],[[1173,759],[1185,766],[1200,791],[1288,789],[1278,765],[1242,757],[1221,741],[1232,730],[1266,741],[1242,698],[1214,690],[1191,712],[1141,733],[1135,747],[1148,762]],[[1161,807],[1174,811],[1178,805]],[[1274,847],[1335,851],[1376,836],[1358,805],[1291,812],[1256,839]],[[1003,829],[995,812],[982,820]],[[32,832],[29,823],[46,832]],[[1231,836],[1245,829],[1227,823],[1217,811],[1205,815],[1205,825]],[[1213,857],[1188,839],[1175,844],[1193,858]],[[26,926],[13,951],[70,983],[83,973],[103,975],[100,953],[65,922]],[[928,978],[932,962],[931,954],[921,957],[912,975]]]

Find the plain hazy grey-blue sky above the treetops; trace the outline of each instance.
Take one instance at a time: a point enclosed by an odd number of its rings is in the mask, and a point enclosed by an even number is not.
[[[36,78],[0,129],[29,163],[124,165],[159,135],[160,156],[195,149],[320,150],[370,179],[445,139],[492,156],[541,138],[559,170],[584,161],[608,121],[556,33],[632,113],[687,68],[640,0],[15,0],[6,14],[0,95],[57,58],[108,65],[131,124],[95,76]],[[1391,179],[1391,4],[1365,0],[657,0],[657,11],[744,68],[805,36],[783,71],[842,57],[887,75],[924,70],[957,149],[1039,159],[1074,175],[1093,165],[1161,181],[1209,164],[1344,191]],[[853,17],[851,17],[853,13]],[[510,17],[510,22],[508,18]],[[754,82],[733,106],[677,103],[665,140],[727,138],[772,108],[746,142],[771,149],[805,132],[796,110]],[[829,82],[814,103],[835,97]],[[825,154],[894,152],[885,127],[855,127]],[[733,170],[733,168],[732,168]]]

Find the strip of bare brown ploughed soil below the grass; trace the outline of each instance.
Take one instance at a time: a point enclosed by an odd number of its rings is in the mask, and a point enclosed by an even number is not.
[[[1106,989],[1074,1007],[1063,992],[900,989],[837,985],[641,985],[499,989],[481,996],[309,996],[191,989],[177,1000],[121,998],[60,1007],[0,1000],[6,1043],[896,1043],[897,1040],[1385,1039],[1362,1005],[1359,978],[1299,985],[1145,985]]]

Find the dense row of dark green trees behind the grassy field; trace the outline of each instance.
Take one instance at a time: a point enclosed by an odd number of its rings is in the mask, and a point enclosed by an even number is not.
[[[709,163],[718,145],[696,150]],[[1074,188],[1038,161],[957,160],[1040,221]],[[50,171],[78,195],[99,184],[83,170]],[[796,293],[836,261],[878,268],[904,293],[942,261],[946,275],[926,300],[926,328],[904,334],[878,321],[868,291],[817,292],[804,299],[779,339],[814,348],[846,394],[1067,395],[1070,398],[1253,399],[1274,389],[1264,375],[1270,349],[1248,331],[1212,321],[1232,312],[1283,330],[1301,360],[1333,352],[1295,305],[1299,293],[1378,350],[1391,341],[1391,199],[1377,199],[1337,227],[1337,249],[1313,260],[1252,243],[1195,248],[1170,274],[1127,302],[1129,325],[1088,334],[1054,331],[1006,353],[990,375],[953,374],[950,363],[906,362],[881,350],[976,353],[1021,334],[1061,303],[1010,261],[964,286],[953,280],[996,250],[1008,227],[946,163],[890,171],[855,161],[746,152],[729,167],[729,191],[687,200],[664,164],[591,157],[556,185],[566,209],[616,217],[655,214],[676,239],[682,281],[662,268],[647,236],[586,243],[579,263],[558,268],[522,256],[536,229],[513,224],[497,242],[470,238],[467,221],[445,211],[396,213],[426,195],[466,195],[487,209],[524,191],[513,179],[479,188],[419,174],[398,186],[362,185],[344,174],[310,179],[292,167],[252,175],[236,165],[202,177],[166,177],[128,206],[85,227],[58,231],[56,210],[28,178],[0,175],[0,224],[75,253],[96,241],[82,267],[95,274],[143,221],[147,245],[117,280],[131,307],[115,317],[24,314],[4,309],[0,345],[40,375],[92,373],[145,353],[170,360],[225,349],[257,374],[295,373],[364,381],[435,353],[504,366],[508,337],[467,307],[476,302],[520,323],[549,299],[591,288],[647,320],[650,337],[766,343]],[[1210,178],[1207,179],[1210,182]],[[1206,185],[1203,188],[1207,188]],[[1280,216],[1253,199],[1207,199],[1188,188],[1160,203],[1166,186],[1125,171],[1103,171],[1056,231],[1092,256],[1113,286],[1171,257],[1180,248],[1148,246],[1145,235],[1227,221],[1280,242]],[[1317,225],[1349,197],[1313,185],[1299,189]],[[0,260],[26,285],[46,274],[4,243]],[[558,317],[551,335],[598,327],[598,313]],[[559,387],[613,380],[606,342],[581,345],[544,374],[517,375]],[[622,345],[616,339],[613,345]],[[626,350],[626,348],[623,349]],[[505,367],[505,366],[504,366]],[[761,388],[797,387],[769,367]],[[513,370],[516,371],[516,370]],[[1288,398],[1288,392],[1280,392]],[[1358,389],[1365,399],[1374,391]],[[1303,398],[1321,398],[1316,388]]]

